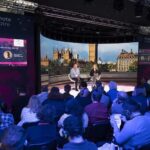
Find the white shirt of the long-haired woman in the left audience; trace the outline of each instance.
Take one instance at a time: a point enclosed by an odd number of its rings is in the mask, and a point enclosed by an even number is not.
[[[18,126],[22,126],[27,122],[37,122],[39,119],[36,116],[36,113],[32,112],[30,108],[24,107],[21,112],[21,121],[18,123]]]

